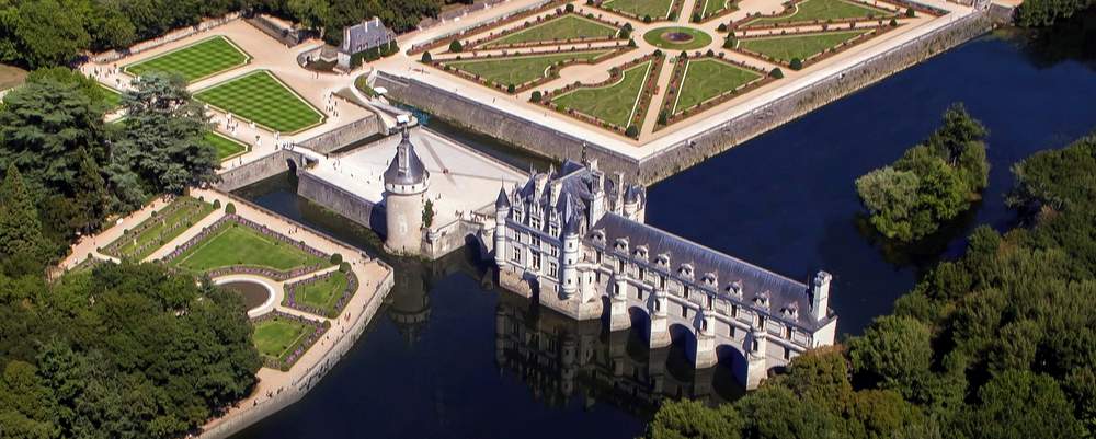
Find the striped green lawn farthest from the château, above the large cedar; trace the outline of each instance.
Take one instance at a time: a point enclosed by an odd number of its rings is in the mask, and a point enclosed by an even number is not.
[[[134,62],[123,69],[135,77],[149,71],[170,71],[182,74],[186,82],[220,73],[248,63],[251,56],[240,50],[228,38],[217,35]]]

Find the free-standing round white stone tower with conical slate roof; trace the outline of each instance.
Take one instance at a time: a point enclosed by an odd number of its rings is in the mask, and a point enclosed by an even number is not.
[[[418,255],[422,252],[422,217],[430,172],[414,152],[403,127],[396,157],[385,171],[385,247],[389,252]]]

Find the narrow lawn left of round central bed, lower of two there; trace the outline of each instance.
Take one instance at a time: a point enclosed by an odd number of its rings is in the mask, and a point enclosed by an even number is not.
[[[529,81],[546,78],[545,71],[549,66],[560,61],[591,61],[612,53],[613,50],[591,50],[576,51],[557,55],[522,56],[507,58],[491,58],[483,60],[465,60],[445,62],[456,69],[464,70],[472,74],[479,74],[488,81],[498,82],[503,85],[521,85]]]

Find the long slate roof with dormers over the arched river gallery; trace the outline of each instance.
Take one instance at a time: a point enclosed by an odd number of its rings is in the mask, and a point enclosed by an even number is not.
[[[703,286],[703,277],[708,273],[715,273],[717,281],[715,289],[720,297],[732,297],[755,310],[760,308],[755,304],[755,300],[766,298],[769,303],[765,312],[775,319],[795,323],[810,331],[829,322],[829,317],[820,322],[812,313],[807,312],[811,308],[810,296],[807,285],[802,282],[612,212],[602,217],[586,232],[585,241],[594,240],[597,232],[604,233],[604,245],[609,247],[620,238],[628,240],[630,249],[647,247],[652,266],[657,266],[654,261],[659,255],[669,256],[667,269],[671,274],[676,274],[683,264],[689,264],[696,285]],[[727,290],[732,285],[741,287],[741,298],[734,297]],[[781,312],[786,309],[798,310],[797,316],[792,317]]]

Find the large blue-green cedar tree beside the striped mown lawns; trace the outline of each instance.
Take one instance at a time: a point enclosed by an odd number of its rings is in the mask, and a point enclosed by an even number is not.
[[[205,111],[191,99],[181,77],[144,74],[122,102],[126,130],[115,143],[115,163],[157,190],[175,194],[216,180],[217,152],[205,141]]]

